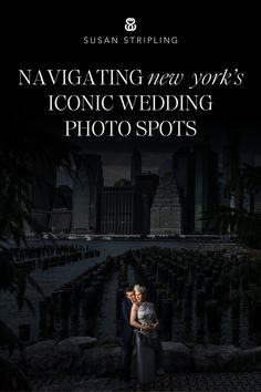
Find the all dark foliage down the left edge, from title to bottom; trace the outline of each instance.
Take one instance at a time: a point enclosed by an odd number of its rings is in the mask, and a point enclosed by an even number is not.
[[[21,113],[20,113],[21,114]],[[14,240],[18,247],[27,245],[24,225],[31,225],[34,230],[42,228],[31,217],[33,208],[31,187],[33,183],[44,179],[34,168],[34,163],[44,167],[48,164],[63,168],[70,176],[75,175],[79,164],[77,148],[62,135],[51,131],[40,131],[28,127],[19,117],[14,118],[10,132],[4,134],[0,146],[0,291],[8,291],[14,296],[18,308],[24,303],[33,311],[33,307],[25,297],[28,283],[43,295],[39,285],[22,268],[19,268],[4,251],[8,237]],[[22,350],[22,343],[12,330],[0,320],[0,345],[14,347]],[[21,369],[0,357],[0,384],[6,390],[30,390],[27,376]]]

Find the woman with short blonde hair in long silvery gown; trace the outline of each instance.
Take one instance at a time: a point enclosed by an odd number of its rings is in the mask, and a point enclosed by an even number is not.
[[[137,373],[142,384],[154,382],[156,369],[161,368],[161,344],[157,336],[158,320],[154,303],[146,301],[146,288],[134,286],[136,301],[130,311],[130,326],[135,327],[135,345],[137,351]]]

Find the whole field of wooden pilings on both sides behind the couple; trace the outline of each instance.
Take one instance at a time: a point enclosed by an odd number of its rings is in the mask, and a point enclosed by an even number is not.
[[[103,287],[115,272],[118,276],[115,332],[121,336],[121,306],[128,286],[129,266],[135,271],[136,282],[147,287],[148,300],[156,305],[163,340],[175,339],[174,323],[180,314],[185,329],[187,323],[196,326],[199,341],[206,341],[206,334],[215,337],[220,331],[226,307],[230,309],[232,333],[238,336],[242,297],[248,308],[249,332],[260,338],[260,275],[247,257],[157,247],[107,257],[55,290],[40,303],[41,336],[56,334],[59,339],[79,333],[95,336]]]

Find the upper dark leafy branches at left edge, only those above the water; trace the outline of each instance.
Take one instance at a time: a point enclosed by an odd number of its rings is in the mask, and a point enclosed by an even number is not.
[[[30,215],[31,186],[43,182],[34,163],[43,167],[51,163],[74,176],[79,159],[77,148],[55,133],[41,131],[39,135],[36,130],[25,127],[6,135],[0,148],[0,240],[10,235],[18,246],[25,243],[25,223],[36,231],[42,229]]]

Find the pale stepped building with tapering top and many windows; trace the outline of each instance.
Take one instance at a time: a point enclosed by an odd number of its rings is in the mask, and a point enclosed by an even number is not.
[[[181,205],[173,173],[159,180],[150,209],[150,234],[174,236],[181,233]]]

